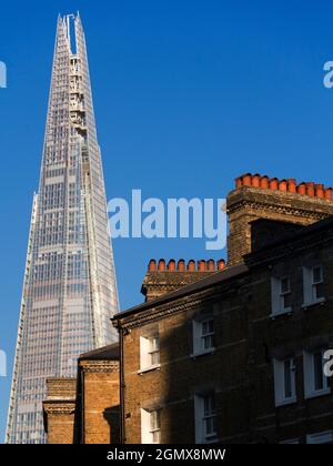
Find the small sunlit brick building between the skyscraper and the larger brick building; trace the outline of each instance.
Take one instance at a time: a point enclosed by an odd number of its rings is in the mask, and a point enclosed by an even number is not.
[[[77,378],[47,381],[44,426],[50,444],[119,443],[119,345],[82,355]]]

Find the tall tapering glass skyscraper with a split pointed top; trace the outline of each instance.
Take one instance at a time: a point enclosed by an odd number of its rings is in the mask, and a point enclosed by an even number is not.
[[[77,357],[117,340],[107,199],[84,33],[58,19],[38,194],[33,200],[7,443],[43,443],[48,377],[74,376]]]

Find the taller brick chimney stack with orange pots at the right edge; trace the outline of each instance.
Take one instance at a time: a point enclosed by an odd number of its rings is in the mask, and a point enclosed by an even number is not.
[[[307,186],[309,185],[309,186]],[[263,188],[264,186],[264,188]],[[246,174],[226,199],[229,213],[228,264],[243,261],[251,249],[251,225],[258,219],[310,225],[333,214],[331,189],[291,180]]]

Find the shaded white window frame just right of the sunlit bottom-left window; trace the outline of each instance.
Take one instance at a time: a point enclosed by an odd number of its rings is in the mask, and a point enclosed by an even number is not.
[[[208,392],[202,394],[196,394],[194,396],[194,417],[195,417],[195,444],[211,444],[218,440],[218,432],[206,434],[205,425],[206,421],[214,418],[218,421],[216,407],[214,412],[205,413],[204,412],[204,404],[206,398],[214,399],[214,404],[216,402],[216,397],[214,392]]]

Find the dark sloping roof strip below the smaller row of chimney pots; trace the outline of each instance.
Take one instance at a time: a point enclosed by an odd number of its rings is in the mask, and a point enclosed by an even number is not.
[[[193,293],[210,288],[219,283],[226,282],[229,280],[243,275],[248,272],[249,272],[249,267],[245,264],[238,264],[238,265],[233,265],[232,267],[226,267],[223,271],[213,273],[202,280],[199,280],[198,282],[191,283],[190,285],[182,286],[181,288],[175,290],[171,293],[165,293],[157,297],[155,300],[148,301],[145,303],[139,304],[138,306],[130,307],[127,311],[120,312],[114,315],[112,321],[118,321],[131,314],[135,314],[142,311],[149,310],[151,307],[155,307],[161,304],[167,304],[174,300],[189,296]]]

